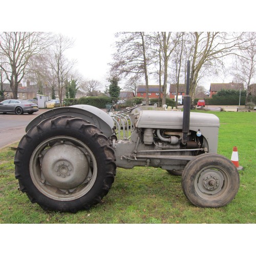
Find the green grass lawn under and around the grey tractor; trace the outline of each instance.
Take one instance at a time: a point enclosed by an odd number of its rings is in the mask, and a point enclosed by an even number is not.
[[[76,214],[44,211],[18,190],[14,154],[0,151],[0,223],[255,223],[256,113],[208,112],[220,118],[218,153],[231,158],[238,147],[240,189],[221,208],[199,208],[183,194],[181,177],[153,167],[117,169],[100,204]]]

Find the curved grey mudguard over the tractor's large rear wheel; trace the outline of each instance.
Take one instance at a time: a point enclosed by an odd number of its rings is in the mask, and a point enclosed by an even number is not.
[[[97,126],[106,137],[110,137],[113,133],[114,121],[104,111],[91,105],[73,105],[63,106],[61,108],[51,109],[34,118],[26,127],[26,132],[40,123],[42,120],[56,116],[73,116],[79,117]]]

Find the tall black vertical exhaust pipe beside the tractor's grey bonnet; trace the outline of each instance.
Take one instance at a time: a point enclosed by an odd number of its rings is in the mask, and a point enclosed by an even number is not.
[[[189,82],[190,82],[190,60],[187,61],[186,95],[184,95],[184,99],[183,99],[183,124],[182,124],[183,138],[181,140],[181,143],[183,146],[186,146],[187,144],[187,134],[189,132],[189,122],[190,122],[191,97],[189,95]]]

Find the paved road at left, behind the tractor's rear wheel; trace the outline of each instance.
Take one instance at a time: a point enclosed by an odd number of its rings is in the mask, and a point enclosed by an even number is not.
[[[27,124],[45,111],[47,110],[39,110],[32,115],[0,113],[0,149],[19,141],[26,133]]]

